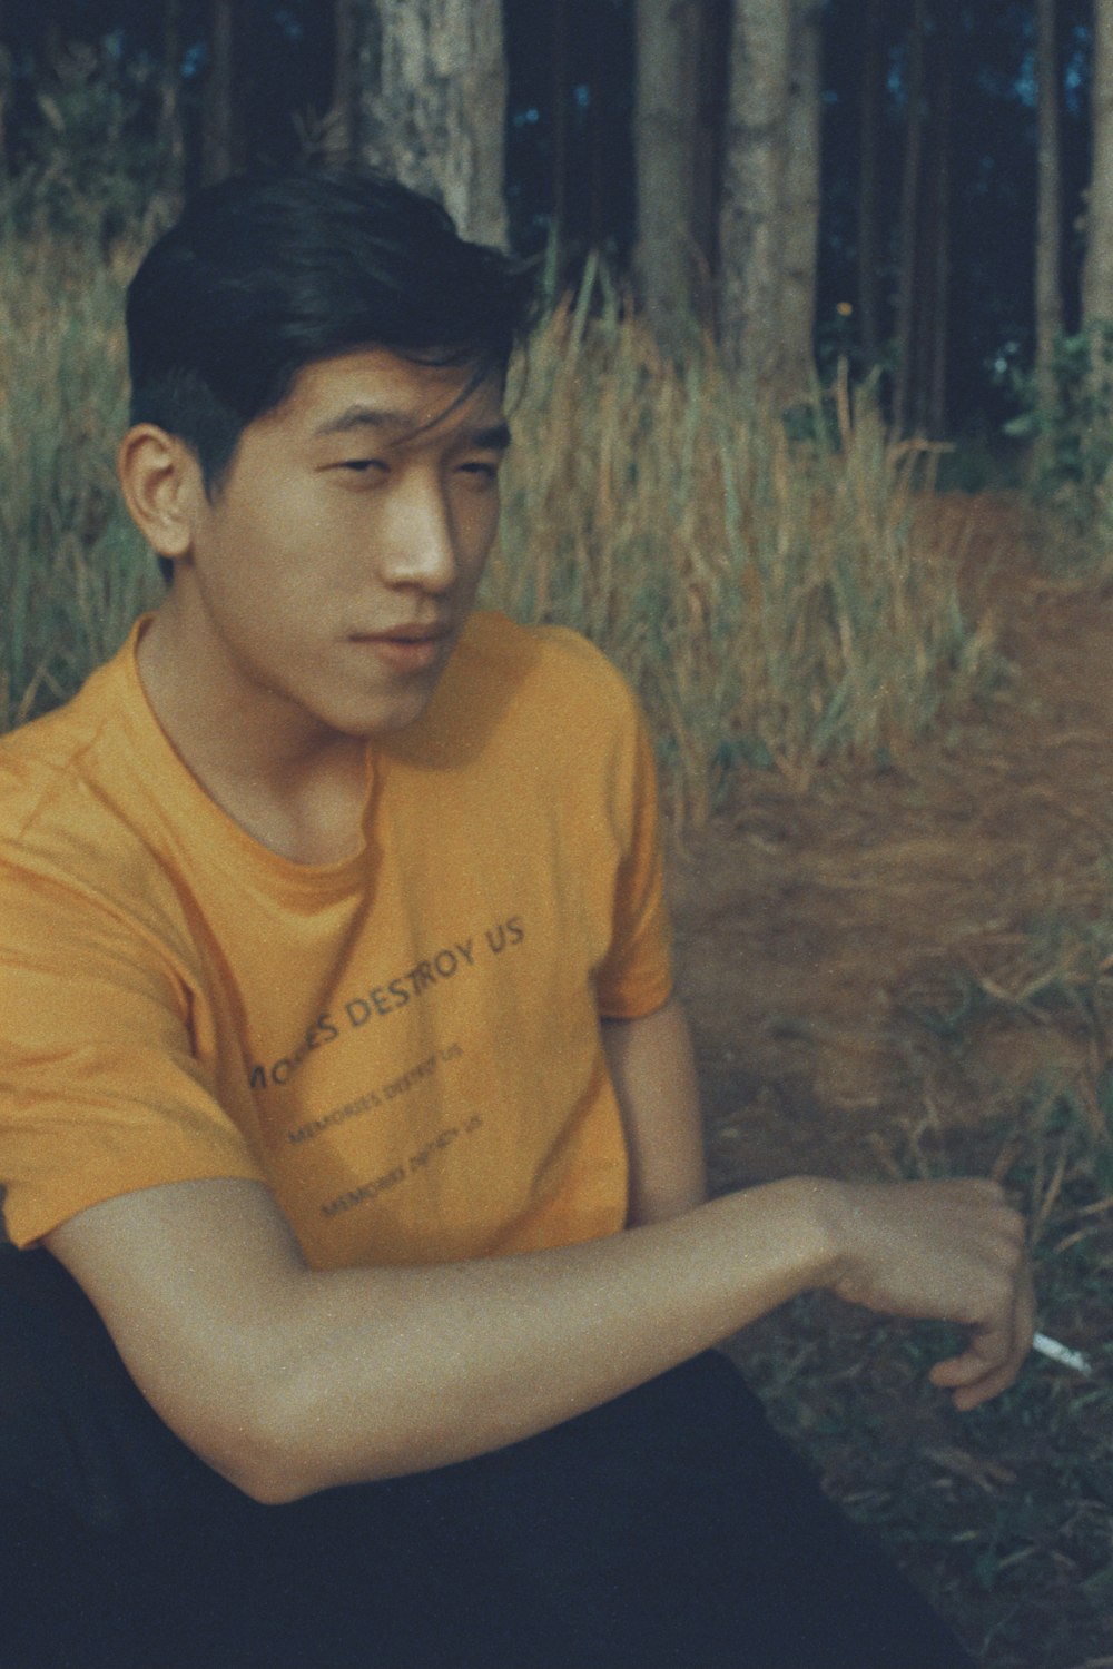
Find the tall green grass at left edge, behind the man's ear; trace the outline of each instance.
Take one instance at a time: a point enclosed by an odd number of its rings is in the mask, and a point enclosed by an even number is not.
[[[0,240],[0,723],[65,699],[155,594],[112,456],[130,262]]]

